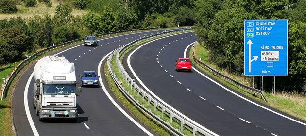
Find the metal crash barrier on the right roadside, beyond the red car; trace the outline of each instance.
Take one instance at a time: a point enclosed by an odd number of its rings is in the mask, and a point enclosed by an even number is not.
[[[263,94],[263,91],[260,91],[260,90],[258,90],[258,89],[252,88],[252,87],[247,86],[247,85],[244,85],[244,84],[242,84],[242,83],[240,83],[240,82],[234,80],[234,79],[231,78],[231,77],[225,76],[225,75],[221,74],[220,72],[216,71],[215,69],[213,69],[212,67],[208,66],[207,64],[203,63],[200,59],[198,59],[198,57],[195,55],[195,46],[196,46],[196,45],[198,45],[198,42],[196,42],[196,43],[194,43],[194,44],[192,45],[192,56],[193,56],[193,60],[195,60],[196,63],[198,63],[198,64],[200,64],[202,67],[205,67],[206,69],[212,71],[213,75],[219,76],[219,77],[221,76],[221,77],[223,77],[224,79],[227,79],[227,80],[229,80],[229,81],[235,83],[236,85],[238,85],[238,86],[240,87],[240,89],[241,89],[241,88],[244,88],[244,89],[246,89],[247,91],[253,91],[253,92],[256,93],[256,94],[261,95],[261,98],[262,98],[265,102],[267,102],[267,100],[266,100],[266,98],[265,98],[265,96],[264,96],[264,94]]]

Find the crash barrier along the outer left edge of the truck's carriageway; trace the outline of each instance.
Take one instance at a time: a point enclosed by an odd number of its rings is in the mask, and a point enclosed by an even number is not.
[[[121,30],[121,31],[116,31],[116,32],[108,32],[108,33],[103,33],[103,34],[98,34],[96,35],[97,37],[104,37],[104,36],[111,36],[111,35],[116,35],[116,34],[122,34],[122,33],[126,33],[126,32],[134,32],[134,31],[139,31],[139,30],[152,30],[152,29],[158,29],[158,27],[154,27],[154,28],[146,28],[146,29],[136,29],[136,30]],[[85,37],[84,37],[85,38]],[[10,79],[11,77],[14,77],[16,75],[16,72],[26,63],[28,62],[29,60],[31,60],[32,58],[40,55],[41,53],[45,53],[45,52],[48,52],[49,50],[53,49],[53,48],[58,48],[58,47],[61,47],[61,46],[66,46],[68,44],[72,44],[72,43],[76,43],[76,42],[80,42],[82,40],[84,40],[84,38],[79,38],[79,39],[75,39],[75,40],[72,40],[72,41],[68,41],[68,42],[65,42],[65,43],[62,43],[62,44],[58,44],[58,45],[52,45],[48,48],[45,48],[33,55],[31,55],[30,57],[27,57],[25,60],[23,60],[22,62],[20,62],[14,69],[13,71],[8,74],[8,76],[3,80],[3,84],[1,86],[1,90],[0,90],[0,93],[1,93],[1,101],[3,100],[3,95],[4,95],[4,92],[5,92],[5,89],[6,89],[6,86],[10,84]]]

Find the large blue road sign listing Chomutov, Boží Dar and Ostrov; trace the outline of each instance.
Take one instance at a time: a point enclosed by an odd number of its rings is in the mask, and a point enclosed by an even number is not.
[[[288,20],[244,20],[244,75],[288,75]]]

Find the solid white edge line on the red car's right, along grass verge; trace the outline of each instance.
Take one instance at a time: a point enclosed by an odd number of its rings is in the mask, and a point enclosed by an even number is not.
[[[195,41],[195,42],[196,42],[196,41]],[[193,42],[193,43],[195,43],[195,42]],[[190,45],[192,45],[193,43],[191,43]],[[186,57],[187,49],[189,48],[190,45],[188,45],[188,46],[185,48],[184,57]],[[272,112],[272,113],[274,113],[274,114],[277,114],[277,115],[279,115],[279,116],[281,116],[281,117],[284,117],[284,118],[286,118],[286,119],[288,119],[288,120],[291,120],[291,121],[294,121],[294,122],[297,122],[297,123],[300,123],[300,124],[306,126],[306,123],[303,123],[303,122],[301,122],[301,121],[294,120],[294,119],[292,119],[292,118],[290,118],[290,117],[288,117],[288,116],[286,116],[286,115],[283,115],[283,114],[281,114],[281,113],[278,113],[278,112],[276,112],[276,111],[274,111],[274,110],[272,110],[272,109],[269,109],[269,108],[267,108],[267,107],[261,106],[261,105],[255,103],[255,102],[253,102],[253,101],[247,99],[247,98],[244,98],[243,96],[237,94],[236,92],[231,91],[231,90],[229,90],[228,88],[222,86],[221,84],[219,84],[218,82],[216,82],[216,81],[214,81],[213,79],[209,78],[208,76],[205,76],[204,74],[202,74],[200,71],[198,71],[198,70],[195,69],[194,67],[192,67],[192,69],[193,69],[194,71],[196,71],[197,73],[199,73],[200,75],[202,75],[202,76],[204,76],[205,78],[207,78],[208,80],[210,80],[210,81],[212,81],[213,83],[217,84],[217,85],[220,86],[221,88],[225,89],[226,91],[229,91],[229,92],[233,93],[234,95],[240,97],[241,99],[243,99],[243,100],[245,100],[245,101],[247,101],[247,102],[250,102],[251,104],[254,104],[255,106],[259,106],[259,107],[261,107],[261,108],[263,108],[263,109],[265,109],[265,110],[268,110],[268,111],[270,111],[270,112]]]

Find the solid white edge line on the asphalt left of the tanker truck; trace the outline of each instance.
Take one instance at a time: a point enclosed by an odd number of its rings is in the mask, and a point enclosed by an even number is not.
[[[32,119],[31,113],[30,113],[30,109],[29,109],[29,105],[28,105],[28,88],[30,86],[30,83],[31,83],[33,75],[34,75],[34,72],[32,72],[32,74],[31,74],[30,78],[28,79],[28,82],[27,82],[27,84],[25,86],[24,94],[23,94],[23,99],[24,99],[24,108],[25,108],[25,111],[26,111],[27,118],[28,118],[28,121],[30,123],[30,126],[32,128],[33,133],[34,133],[34,136],[39,136],[38,131],[37,131],[37,129],[35,127],[35,124],[33,122],[33,119]]]

